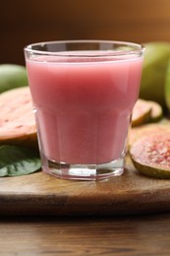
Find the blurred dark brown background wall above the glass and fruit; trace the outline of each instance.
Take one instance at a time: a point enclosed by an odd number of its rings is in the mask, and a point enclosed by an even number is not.
[[[31,42],[170,41],[170,0],[1,0],[0,63],[25,64]]]

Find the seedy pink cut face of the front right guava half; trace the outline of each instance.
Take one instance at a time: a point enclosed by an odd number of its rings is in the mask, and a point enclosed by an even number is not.
[[[142,164],[170,168],[170,132],[142,137],[133,144],[131,155]]]

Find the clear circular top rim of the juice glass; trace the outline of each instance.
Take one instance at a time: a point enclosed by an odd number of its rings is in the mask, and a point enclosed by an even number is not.
[[[134,54],[142,54],[145,47],[141,43],[136,43],[136,42],[131,42],[131,41],[123,41],[123,40],[100,40],[100,39],[79,39],[79,40],[49,40],[49,41],[41,41],[41,42],[35,42],[35,43],[30,43],[27,46],[24,47],[24,51],[27,53],[32,53],[32,54],[38,54],[38,55],[47,55],[47,56],[75,56],[75,52],[79,52],[80,50],[74,50],[72,51],[52,51],[52,50],[38,50],[38,49],[33,49],[33,46],[44,46],[44,45],[52,45],[52,44],[92,44],[92,43],[98,43],[98,44],[107,44],[107,45],[124,45],[124,46],[130,46],[132,49],[122,49],[122,50],[114,50],[114,49],[97,49],[95,50],[95,53],[90,53],[88,54],[76,54],[77,57],[104,57],[104,56],[123,56],[123,55],[134,55]],[[83,50],[85,52],[85,50]],[[87,51],[93,51],[92,49],[87,50]],[[65,54],[63,54],[65,52]],[[68,52],[68,54],[67,54]],[[98,52],[98,53],[97,53]]]

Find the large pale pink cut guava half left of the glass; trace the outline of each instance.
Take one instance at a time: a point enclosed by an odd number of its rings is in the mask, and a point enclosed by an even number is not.
[[[0,145],[37,147],[36,126],[28,87],[0,94]]]

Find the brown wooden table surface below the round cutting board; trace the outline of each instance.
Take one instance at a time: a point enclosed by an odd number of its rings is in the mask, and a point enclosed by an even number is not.
[[[170,214],[0,221],[0,255],[170,255]]]

